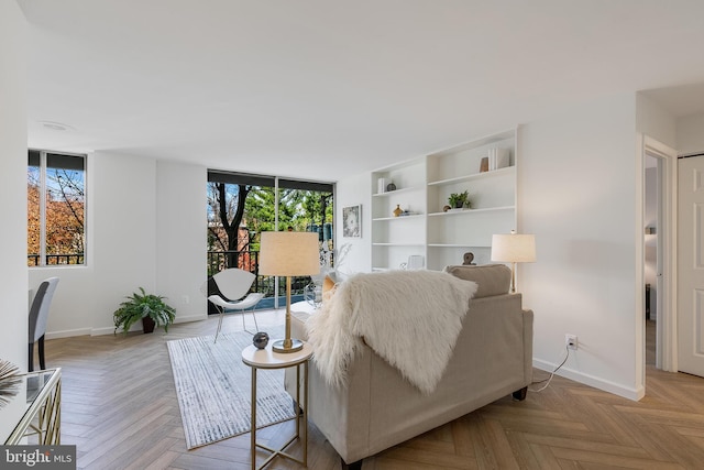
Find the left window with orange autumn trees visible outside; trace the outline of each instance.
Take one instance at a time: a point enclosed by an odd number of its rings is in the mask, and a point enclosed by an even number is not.
[[[85,264],[86,156],[28,153],[28,265]]]

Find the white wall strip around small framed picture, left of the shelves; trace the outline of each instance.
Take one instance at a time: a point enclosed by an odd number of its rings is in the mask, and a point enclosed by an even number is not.
[[[362,237],[342,237],[342,208],[362,205]],[[349,244],[350,251],[336,265],[342,273],[353,274],[372,270],[372,178],[369,173],[349,176],[336,185],[334,198],[334,233],[337,249]]]

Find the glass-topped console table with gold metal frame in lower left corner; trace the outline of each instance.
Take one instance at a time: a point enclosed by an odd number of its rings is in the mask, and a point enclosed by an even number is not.
[[[61,445],[62,370],[47,369],[13,375],[16,383],[0,382],[0,442]],[[3,385],[3,382],[6,385]]]

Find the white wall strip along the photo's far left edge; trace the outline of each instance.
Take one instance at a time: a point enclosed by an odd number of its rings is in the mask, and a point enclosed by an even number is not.
[[[0,0],[0,359],[26,370],[26,21]],[[9,229],[15,227],[15,229]]]

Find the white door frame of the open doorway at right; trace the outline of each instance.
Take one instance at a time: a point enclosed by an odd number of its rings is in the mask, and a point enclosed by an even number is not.
[[[678,371],[678,329],[676,329],[676,240],[678,240],[678,153],[674,149],[648,136],[641,143],[641,186],[645,201],[645,162],[646,156],[658,159],[658,324],[656,367],[663,371]],[[642,205],[645,212],[645,204]],[[641,214],[641,221],[645,215]],[[644,228],[641,227],[640,230]],[[641,243],[642,231],[640,232]],[[645,251],[644,251],[645,253]],[[641,256],[641,273],[645,272],[645,256]],[[641,298],[645,297],[645,284],[641,283]],[[642,316],[642,311],[640,313]],[[645,320],[642,324],[642,357],[645,363]]]

